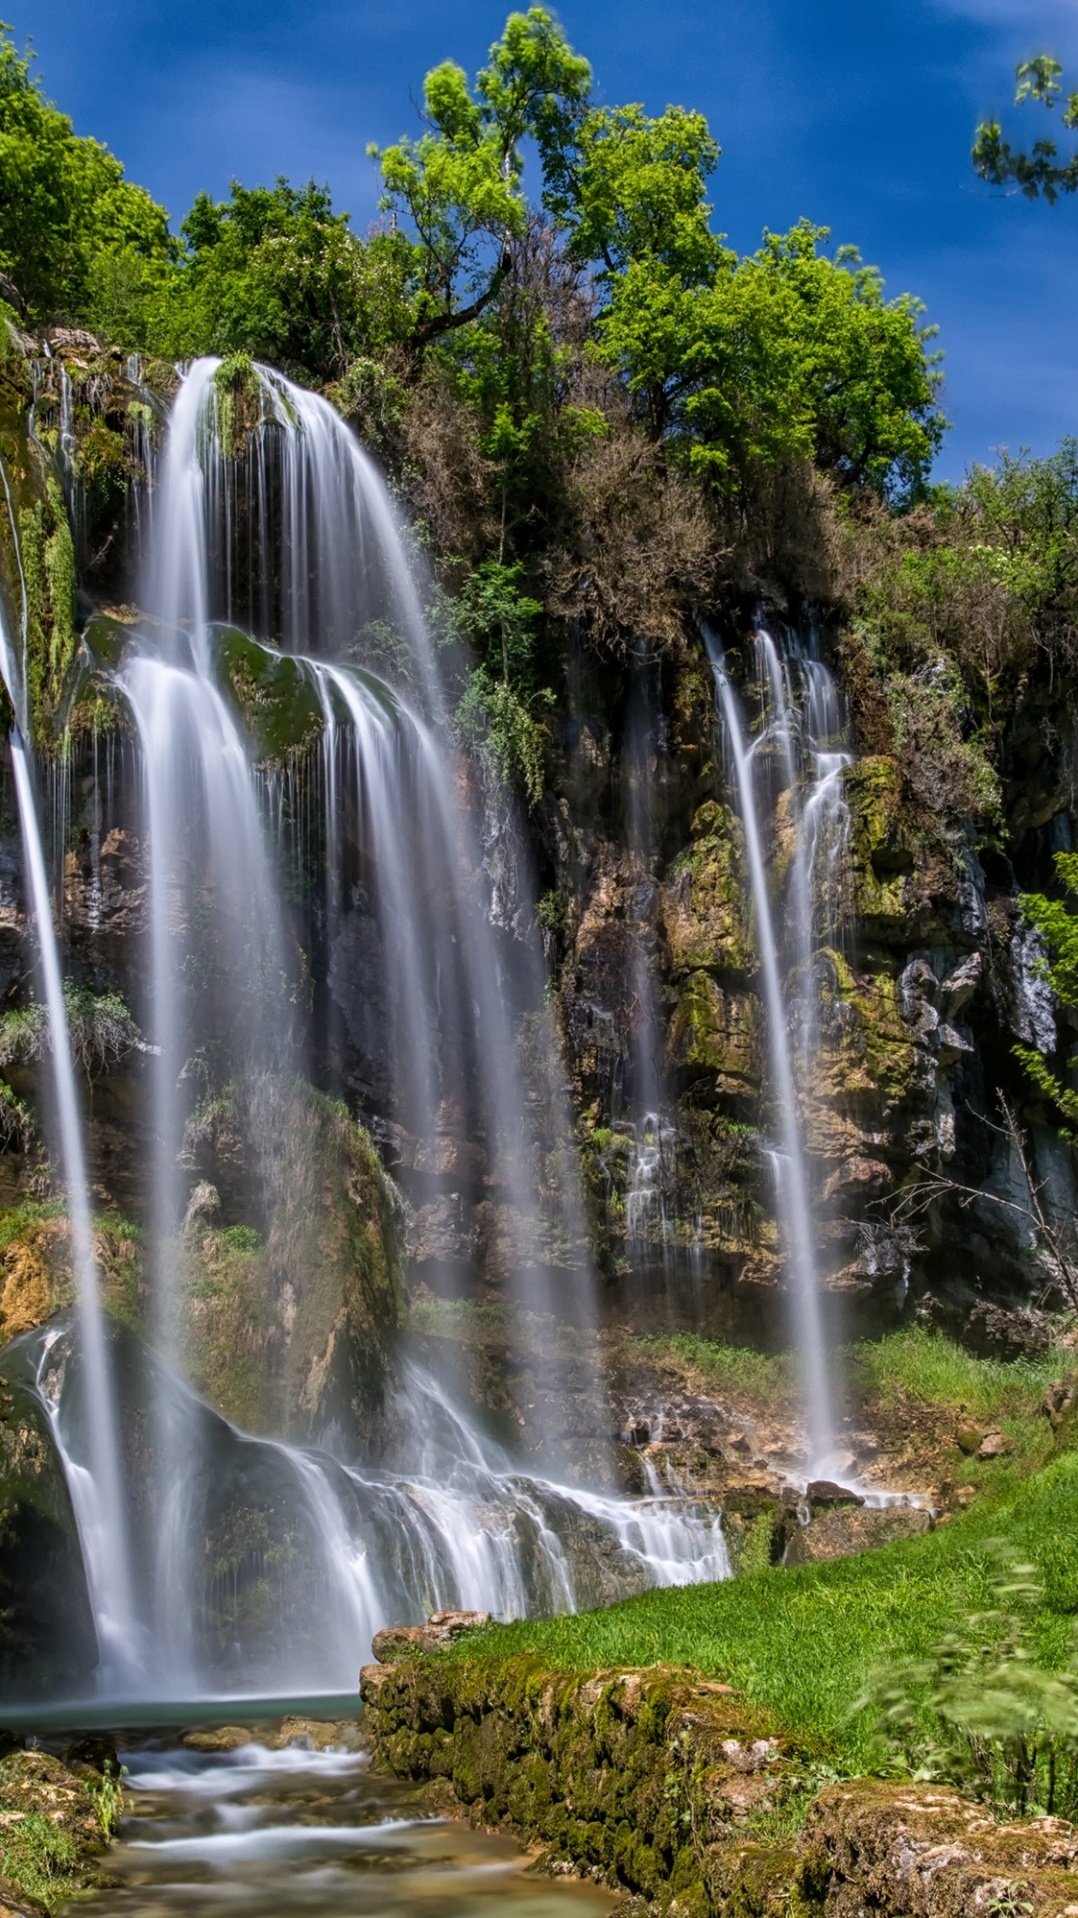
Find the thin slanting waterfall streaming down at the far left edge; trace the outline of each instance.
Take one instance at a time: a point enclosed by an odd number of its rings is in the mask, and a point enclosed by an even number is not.
[[[6,487],[8,481],[4,476],[4,489]],[[12,533],[15,537],[13,520]],[[10,738],[12,773],[23,840],[29,909],[36,926],[38,976],[48,1015],[54,1124],[59,1145],[61,1178],[67,1193],[71,1264],[75,1268],[75,1291],[79,1300],[79,1327],[84,1366],[84,1404],[79,1433],[71,1438],[63,1435],[59,1431],[56,1404],[48,1396],[44,1396],[42,1402],[58,1435],[61,1456],[67,1454],[71,1460],[67,1485],[82,1540],[86,1582],[90,1588],[94,1623],[98,1630],[102,1674],[107,1684],[123,1684],[140,1669],[142,1648],[136,1628],[136,1605],[132,1592],[129,1517],[117,1444],[115,1391],[98,1289],[98,1262],[94,1254],[94,1228],[90,1216],[90,1181],[86,1176],[82,1118],[79,1111],[79,1084],[71,1053],[67,1005],[63,999],[63,974],[52,917],[52,892],[44,861],[35,771],[31,763],[31,750],[19,725],[19,719],[25,721],[27,710],[25,679],[15,648],[12,646],[2,600],[0,671],[4,675],[12,708],[17,715]],[[81,1456],[77,1458],[77,1454]]]

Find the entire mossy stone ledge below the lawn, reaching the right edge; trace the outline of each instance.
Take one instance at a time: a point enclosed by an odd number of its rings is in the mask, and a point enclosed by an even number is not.
[[[819,1791],[788,1836],[809,1745],[681,1667],[434,1653],[366,1665],[361,1694],[376,1768],[620,1887],[629,1910],[1078,1918],[1078,1834],[1055,1818],[999,1824],[957,1791],[861,1778]]]

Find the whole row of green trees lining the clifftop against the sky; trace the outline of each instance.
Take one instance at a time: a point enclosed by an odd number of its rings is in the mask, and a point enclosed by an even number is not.
[[[382,221],[366,238],[328,188],[286,178],[199,194],[173,238],[4,33],[10,295],[36,322],[81,320],[169,359],[244,353],[341,391],[439,366],[501,476],[499,564],[516,495],[541,495],[539,470],[602,430],[595,407],[566,403],[574,355],[719,491],[790,462],[894,499],[925,485],[944,422],[919,303],[886,299],[879,270],[808,221],[738,257],[714,224],[719,144],[702,113],[597,105],[589,61],[533,6],[510,13],[474,81],[432,67],[422,119],[370,150]],[[572,347],[551,307],[568,288]]]

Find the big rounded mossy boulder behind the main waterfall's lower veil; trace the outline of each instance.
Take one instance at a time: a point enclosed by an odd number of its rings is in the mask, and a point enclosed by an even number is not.
[[[196,1116],[184,1231],[192,1379],[249,1431],[366,1427],[405,1316],[401,1201],[347,1107],[261,1076]],[[247,1195],[247,1218],[224,1224]]]

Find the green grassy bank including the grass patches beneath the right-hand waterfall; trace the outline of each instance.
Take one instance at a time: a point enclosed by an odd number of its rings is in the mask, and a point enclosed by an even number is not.
[[[712,1379],[746,1368],[754,1383],[781,1360],[725,1356],[706,1341],[652,1341],[679,1348],[681,1362],[712,1368]],[[692,1350],[689,1350],[692,1346]],[[811,1740],[842,1770],[869,1763],[871,1722],[855,1713],[869,1671],[919,1655],[992,1602],[994,1542],[1007,1540],[1040,1569],[1043,1603],[1032,1642],[1045,1665],[1070,1653],[1078,1611],[1078,1433],[1057,1435],[1040,1415],[1045,1385],[1061,1358],[1017,1364],[980,1362],[921,1331],[898,1333],[852,1356],[857,1391],[894,1404],[921,1402],[997,1423],[1013,1452],[992,1463],[953,1448],[955,1479],[978,1486],[969,1511],[925,1538],[859,1557],[798,1571],[771,1567],[727,1584],[646,1592],[606,1611],[491,1626],[447,1653],[453,1659],[510,1661],[531,1651],[562,1671],[595,1667],[691,1665],[737,1686],[771,1709],[802,1740]]]

